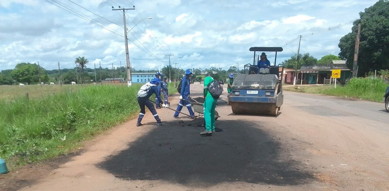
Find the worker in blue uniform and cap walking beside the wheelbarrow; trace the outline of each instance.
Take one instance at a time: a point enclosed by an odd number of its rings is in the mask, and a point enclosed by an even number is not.
[[[180,103],[177,106],[177,111],[181,111],[182,107],[186,106],[188,108],[190,116],[192,118],[195,118],[195,113],[193,113],[192,110],[192,104],[189,102],[189,95],[190,93],[190,85],[191,85],[191,75],[193,73],[191,72],[190,69],[187,69],[185,72],[184,78],[182,78],[182,84],[181,84],[181,91],[180,91]],[[179,112],[174,113],[174,118],[180,118],[178,115],[180,114]]]

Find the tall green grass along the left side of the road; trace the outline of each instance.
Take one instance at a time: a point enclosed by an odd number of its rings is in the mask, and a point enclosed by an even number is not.
[[[0,158],[12,169],[80,147],[81,140],[136,116],[140,86],[91,85],[29,100],[0,99]]]

